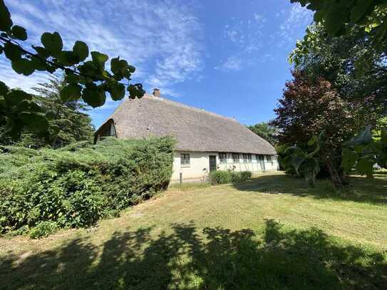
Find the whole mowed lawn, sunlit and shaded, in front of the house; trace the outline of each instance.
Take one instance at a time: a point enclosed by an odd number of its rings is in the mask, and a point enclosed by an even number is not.
[[[190,185],[91,229],[2,238],[0,289],[386,289],[387,172],[351,185]]]

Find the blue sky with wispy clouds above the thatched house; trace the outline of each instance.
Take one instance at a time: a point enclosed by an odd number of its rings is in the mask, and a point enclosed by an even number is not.
[[[311,23],[288,0],[6,0],[14,24],[29,43],[58,31],[65,48],[83,40],[91,50],[120,56],[137,71],[133,82],[148,93],[254,124],[273,109],[291,78],[287,56]],[[30,90],[46,73],[24,77],[0,57],[0,79]],[[108,99],[91,110],[98,127],[118,106]]]

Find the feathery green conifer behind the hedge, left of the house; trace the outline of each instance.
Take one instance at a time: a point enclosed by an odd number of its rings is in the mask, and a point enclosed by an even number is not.
[[[73,100],[63,103],[61,90],[65,86],[63,78],[53,76],[47,83],[39,83],[33,88],[38,95],[33,95],[33,100],[43,110],[51,112],[53,118],[48,120],[48,131],[58,132],[53,140],[41,138],[34,133],[22,133],[19,140],[14,140],[16,145],[24,147],[63,147],[70,143],[83,140],[93,140],[94,128],[91,118],[83,113],[88,106],[80,100]]]

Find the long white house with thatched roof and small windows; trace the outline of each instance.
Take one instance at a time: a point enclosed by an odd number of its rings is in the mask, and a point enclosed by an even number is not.
[[[125,100],[96,131],[105,136],[177,139],[172,182],[203,180],[212,170],[278,170],[272,145],[233,118],[160,98],[160,90]]]

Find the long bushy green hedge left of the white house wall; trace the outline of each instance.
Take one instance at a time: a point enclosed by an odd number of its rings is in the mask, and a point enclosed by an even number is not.
[[[84,227],[165,189],[172,138],[76,143],[59,150],[0,147],[0,232],[56,222]]]

